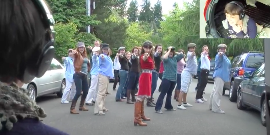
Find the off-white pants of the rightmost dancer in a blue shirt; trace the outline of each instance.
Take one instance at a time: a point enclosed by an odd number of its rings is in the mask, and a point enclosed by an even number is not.
[[[212,109],[212,111],[221,111],[220,99],[225,82],[220,77],[215,77],[214,81],[214,87],[209,99],[209,109]]]

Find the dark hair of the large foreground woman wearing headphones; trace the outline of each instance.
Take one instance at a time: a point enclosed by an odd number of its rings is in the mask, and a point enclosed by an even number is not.
[[[0,80],[10,82],[42,53],[47,30],[32,0],[1,0],[0,30]]]

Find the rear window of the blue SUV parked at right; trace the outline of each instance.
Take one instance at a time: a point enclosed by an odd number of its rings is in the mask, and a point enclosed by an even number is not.
[[[264,57],[263,56],[250,55],[247,58],[247,61],[246,61],[246,68],[256,69],[263,62],[264,62]]]

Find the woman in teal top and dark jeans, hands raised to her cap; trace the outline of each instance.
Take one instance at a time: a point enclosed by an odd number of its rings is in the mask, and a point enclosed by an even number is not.
[[[176,55],[174,47],[168,47],[167,53],[163,56],[163,66],[164,72],[161,81],[161,93],[158,96],[157,104],[155,107],[156,113],[162,114],[161,107],[163,105],[163,100],[166,97],[165,109],[168,111],[176,111],[172,107],[172,91],[176,85],[177,80],[177,62],[184,58],[182,53]]]

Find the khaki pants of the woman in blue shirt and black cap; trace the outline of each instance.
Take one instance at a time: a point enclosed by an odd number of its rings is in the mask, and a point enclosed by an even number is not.
[[[98,94],[97,94],[97,99],[95,103],[94,113],[103,112],[102,110],[105,109],[104,101],[105,101],[106,93],[108,92],[109,77],[99,74],[98,83],[99,83]]]

